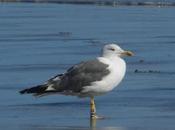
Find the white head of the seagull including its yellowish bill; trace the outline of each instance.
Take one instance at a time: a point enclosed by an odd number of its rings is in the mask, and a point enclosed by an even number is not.
[[[102,56],[103,57],[124,57],[124,56],[133,56],[134,54],[131,51],[124,51],[116,44],[107,44],[103,47]]]

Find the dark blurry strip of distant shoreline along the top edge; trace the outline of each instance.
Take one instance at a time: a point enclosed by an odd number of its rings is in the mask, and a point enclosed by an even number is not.
[[[26,2],[26,3],[58,3],[58,4],[88,4],[104,6],[175,6],[175,2],[136,2],[117,0],[0,0],[3,2]]]

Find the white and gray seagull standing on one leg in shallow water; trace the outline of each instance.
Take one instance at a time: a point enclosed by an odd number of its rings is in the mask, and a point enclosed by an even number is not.
[[[20,91],[21,94],[45,96],[63,94],[80,98],[90,97],[90,118],[97,119],[94,97],[112,91],[122,81],[126,72],[125,56],[133,56],[117,44],[107,44],[102,55],[83,61],[58,74],[46,83]]]

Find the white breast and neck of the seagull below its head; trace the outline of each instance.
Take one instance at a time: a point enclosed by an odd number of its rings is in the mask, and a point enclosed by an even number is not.
[[[126,71],[126,63],[119,57],[107,59],[104,57],[98,58],[101,62],[109,64],[110,74],[105,76],[101,81],[95,81],[91,86],[86,86],[83,92],[90,92],[93,95],[101,95],[111,91],[123,79]]]

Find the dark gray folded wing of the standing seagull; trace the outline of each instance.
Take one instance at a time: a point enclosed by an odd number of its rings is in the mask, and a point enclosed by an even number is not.
[[[65,74],[58,75],[48,81],[58,92],[81,92],[84,86],[101,80],[109,74],[108,65],[98,59],[81,62],[67,70]]]

